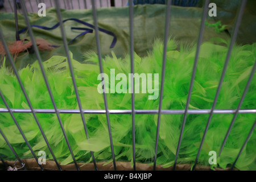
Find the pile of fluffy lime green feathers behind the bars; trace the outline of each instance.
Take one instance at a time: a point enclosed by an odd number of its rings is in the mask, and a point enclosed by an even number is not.
[[[193,86],[189,109],[210,109],[216,94],[218,81],[228,51],[228,43],[218,40],[220,44],[205,42],[200,49],[199,63],[197,65],[195,84]],[[222,45],[222,46],[220,46]],[[192,68],[195,60],[195,47],[176,47],[174,40],[168,42],[166,75],[164,80],[162,109],[184,109],[187,102],[189,83],[191,81]],[[72,53],[71,53],[72,57]],[[101,81],[97,80],[100,73],[98,56],[94,52],[84,54],[84,63],[72,59],[77,86],[83,109],[105,109],[102,94],[98,93],[97,86]],[[154,48],[146,57],[139,57],[135,53],[135,73],[159,73],[161,77],[163,43],[156,40]],[[256,58],[256,44],[235,46],[230,58],[226,76],[221,88],[216,109],[236,109],[240,101],[243,89],[249,78]],[[115,75],[130,73],[130,56],[117,58],[104,57],[104,73],[110,76],[110,69],[115,69]],[[66,57],[53,56],[43,63],[53,97],[58,109],[79,109],[76,94],[69,73]],[[32,65],[19,71],[24,87],[36,109],[53,109],[46,85],[39,65]],[[11,108],[29,109],[22,90],[12,71],[5,65],[0,69],[0,88]],[[160,80],[159,80],[160,83]],[[115,82],[117,84],[117,81]],[[128,88],[128,86],[127,86]],[[160,88],[160,86],[159,86]],[[243,102],[242,109],[256,109],[256,80],[251,82],[248,93]],[[107,95],[109,109],[131,109],[131,94],[109,93]],[[159,98],[148,100],[148,93],[135,94],[135,109],[157,110]],[[5,105],[0,101],[0,107]],[[72,157],[60,129],[56,114],[36,114],[40,124],[46,133],[52,147],[53,154],[61,164],[72,163]],[[46,142],[35,119],[30,113],[14,113],[20,127],[25,133],[32,149],[46,151],[47,159],[52,159]],[[112,162],[108,123],[105,114],[84,114],[88,127],[90,141],[86,139],[84,126],[80,114],[60,114],[65,132],[68,135],[73,153],[79,162],[92,162],[90,151],[94,152],[96,160]],[[208,114],[189,114],[184,129],[183,139],[178,158],[178,163],[191,163],[196,158],[199,150]],[[135,115],[135,143],[136,161],[152,164],[154,161],[157,114]],[[199,163],[209,166],[209,151],[220,150],[226,131],[232,121],[233,114],[214,114],[205,142],[199,157]],[[170,167],[174,164],[177,143],[180,135],[183,114],[162,114],[160,122],[160,134],[158,145],[158,159],[156,164]],[[226,168],[236,159],[243,142],[253,123],[254,114],[238,114],[228,141],[217,158],[217,165],[211,167]],[[113,136],[114,153],[116,160],[132,161],[132,125],[130,114],[110,114],[110,123]],[[6,135],[15,151],[22,158],[31,158],[32,154],[24,139],[20,135],[9,113],[0,113],[0,128]],[[242,152],[236,167],[241,170],[256,169],[256,133],[254,130],[249,142]],[[0,154],[3,159],[15,159],[5,140],[0,136]]]

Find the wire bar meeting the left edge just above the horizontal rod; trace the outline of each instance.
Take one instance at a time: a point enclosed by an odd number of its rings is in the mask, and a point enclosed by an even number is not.
[[[3,100],[3,103],[5,104],[6,108],[8,109],[8,111],[9,111],[9,113],[10,113],[10,115],[11,115],[11,118],[13,118],[13,121],[15,122],[15,125],[18,127],[18,130],[19,130],[20,134],[22,135],[22,137],[23,137],[23,139],[25,140],[25,142],[26,142],[28,148],[30,149],[32,155],[34,156],[36,162],[38,162],[38,158],[36,157],[35,152],[32,150],[32,148],[31,148],[31,146],[30,146],[30,143],[28,142],[26,136],[24,135],[22,129],[21,129],[20,126],[19,126],[19,123],[16,121],[16,119],[15,119],[15,117],[14,117],[14,115],[13,115],[13,112],[11,111],[11,108],[9,107],[9,105],[7,104],[7,102],[6,102],[6,100],[5,100],[5,97],[3,96],[3,93],[2,93],[2,91],[1,91],[1,89],[0,89],[0,96],[1,96],[1,98],[2,98],[2,100]],[[42,169],[42,171],[43,171],[42,165],[39,164],[39,163],[38,163],[38,165],[39,165],[39,167],[40,167],[40,168]]]

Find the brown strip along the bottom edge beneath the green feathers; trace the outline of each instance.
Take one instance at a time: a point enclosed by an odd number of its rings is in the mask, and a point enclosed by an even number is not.
[[[40,170],[40,167],[38,166],[38,163],[35,159],[24,159],[26,163],[27,170]],[[11,167],[14,167],[15,161],[9,161],[6,160],[5,163]],[[106,162],[98,162],[97,168],[101,171],[113,171],[113,163],[105,164]],[[104,165],[105,164],[105,165]],[[133,166],[131,166],[130,162],[116,162],[117,171],[133,171]],[[79,168],[81,171],[94,171],[94,165],[93,163],[78,163]],[[17,163],[15,165],[17,168],[20,167],[20,164]],[[50,171],[56,171],[58,170],[56,163],[52,160],[48,160],[46,164],[42,164],[44,170],[50,170]],[[76,167],[74,164],[68,164],[65,166],[61,166],[61,169],[63,171],[75,171]],[[0,169],[4,169],[4,165],[2,162],[0,162]],[[191,164],[177,164],[176,169],[177,171],[189,171],[191,169]],[[136,163],[136,170],[137,171],[152,171],[153,166],[149,164],[142,164],[142,163]],[[163,168],[162,166],[156,166],[157,171],[171,171],[172,166],[168,168]],[[196,166],[196,171],[209,171],[210,167],[204,167],[204,166]],[[216,171],[226,171],[229,170],[229,168],[226,169],[220,169],[216,168]],[[237,169],[234,169],[237,170]]]

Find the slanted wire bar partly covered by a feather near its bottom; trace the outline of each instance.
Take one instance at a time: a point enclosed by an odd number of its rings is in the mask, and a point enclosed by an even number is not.
[[[67,60],[68,60],[68,65],[69,65],[69,71],[71,72],[72,82],[73,82],[73,86],[74,86],[75,93],[76,93],[77,104],[79,105],[79,110],[80,110],[80,114],[81,114],[81,118],[82,118],[82,123],[83,123],[83,125],[84,125],[84,130],[85,130],[86,138],[87,138],[88,141],[89,141],[89,134],[88,134],[88,130],[87,130],[86,123],[85,123],[84,113],[83,113],[83,111],[82,111],[82,105],[81,105],[81,101],[80,101],[80,97],[79,97],[79,91],[78,91],[78,89],[77,89],[76,78],[75,78],[75,74],[74,74],[74,72],[73,72],[73,66],[72,66],[72,63],[71,63],[71,57],[70,57],[70,55],[69,55],[69,50],[68,50],[68,43],[67,43],[67,39],[66,39],[66,36],[65,36],[65,31],[64,31],[64,28],[63,28],[63,20],[62,20],[61,13],[60,13],[60,9],[59,9],[59,1],[57,0],[57,1],[55,1],[55,3],[56,3],[57,15],[58,15],[59,22],[60,22],[61,35],[62,35],[62,37],[63,37],[65,52],[66,52],[66,54],[67,54]],[[97,171],[98,169],[97,169],[97,166],[96,166],[96,161],[95,161],[95,159],[94,159],[93,152],[90,151],[90,154],[92,155],[94,168],[95,168],[96,171]]]

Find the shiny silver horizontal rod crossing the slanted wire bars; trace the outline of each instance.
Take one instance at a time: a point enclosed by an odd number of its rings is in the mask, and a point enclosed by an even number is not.
[[[31,109],[10,109],[13,113],[31,113]],[[55,109],[33,109],[35,113],[55,113]],[[61,114],[80,114],[79,109],[58,109]],[[0,108],[0,113],[9,113],[8,109]],[[106,114],[104,109],[83,109],[82,113],[85,114]],[[135,114],[158,114],[158,110],[134,110]],[[162,110],[161,114],[184,114],[185,110]],[[234,114],[236,109],[215,109],[213,114]],[[256,109],[241,109],[238,114],[256,113]],[[113,109],[109,110],[109,114],[132,114],[129,109]],[[188,110],[187,114],[210,114],[210,109]]]

